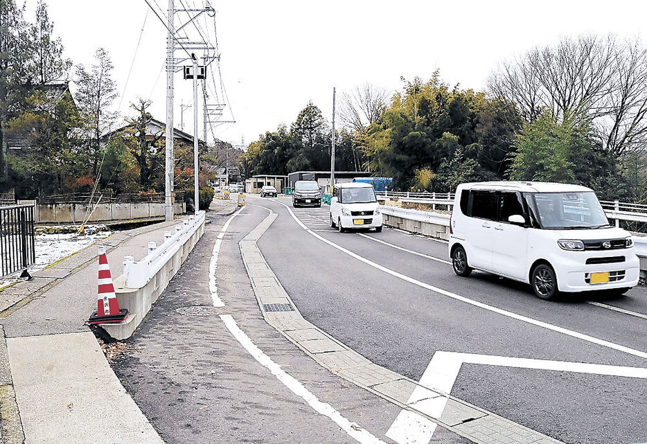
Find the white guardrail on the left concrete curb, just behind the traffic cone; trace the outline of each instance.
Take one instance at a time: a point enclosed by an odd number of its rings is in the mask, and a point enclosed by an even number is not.
[[[123,277],[126,286],[141,288],[149,283],[203,222],[204,211],[199,211],[197,215],[190,215],[188,220],[182,221],[181,225],[175,225],[175,233],[165,231],[162,245],[148,242],[148,255],[142,260],[135,262],[133,256],[124,256]]]

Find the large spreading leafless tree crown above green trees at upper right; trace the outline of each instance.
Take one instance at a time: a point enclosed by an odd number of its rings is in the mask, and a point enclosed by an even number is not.
[[[565,38],[504,62],[490,94],[515,103],[526,121],[589,119],[614,154],[647,148],[647,52],[612,35]]]

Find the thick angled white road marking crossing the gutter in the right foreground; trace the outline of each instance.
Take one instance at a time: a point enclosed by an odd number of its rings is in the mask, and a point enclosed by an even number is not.
[[[624,378],[647,379],[647,368],[590,364],[586,362],[551,361],[547,359],[526,359],[521,357],[477,355],[472,353],[455,353],[437,351],[420,378],[407,405],[421,413],[440,420],[447,405],[447,396],[452,391],[456,378],[463,364],[481,364],[533,370],[567,371],[588,373],[590,375],[619,376]],[[430,396],[433,391],[442,396]],[[408,412],[408,413],[406,413]],[[418,415],[418,418],[423,416]],[[387,436],[399,444],[426,444],[431,440],[435,427],[429,427],[423,421],[411,418],[411,412],[402,409],[387,432]],[[395,436],[391,431],[396,433]],[[396,437],[398,439],[396,439]]]

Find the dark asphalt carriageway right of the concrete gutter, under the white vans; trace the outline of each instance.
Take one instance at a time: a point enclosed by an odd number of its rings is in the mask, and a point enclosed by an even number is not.
[[[377,364],[415,380],[438,350],[647,367],[646,287],[542,301],[503,278],[455,276],[444,242],[337,233],[327,206],[293,210],[306,231],[281,203],[290,200],[247,197],[279,215],[258,242],[267,262],[308,321]],[[566,443],[647,441],[646,379],[463,364],[452,395]]]

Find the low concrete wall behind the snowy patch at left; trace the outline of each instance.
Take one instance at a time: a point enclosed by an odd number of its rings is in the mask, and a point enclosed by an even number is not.
[[[35,204],[35,201],[18,203]],[[34,217],[37,224],[81,224],[85,222],[94,205],[86,204],[36,204]],[[175,214],[186,213],[184,202],[175,203]],[[164,217],[163,202],[133,204],[98,204],[89,222],[114,222]]]

